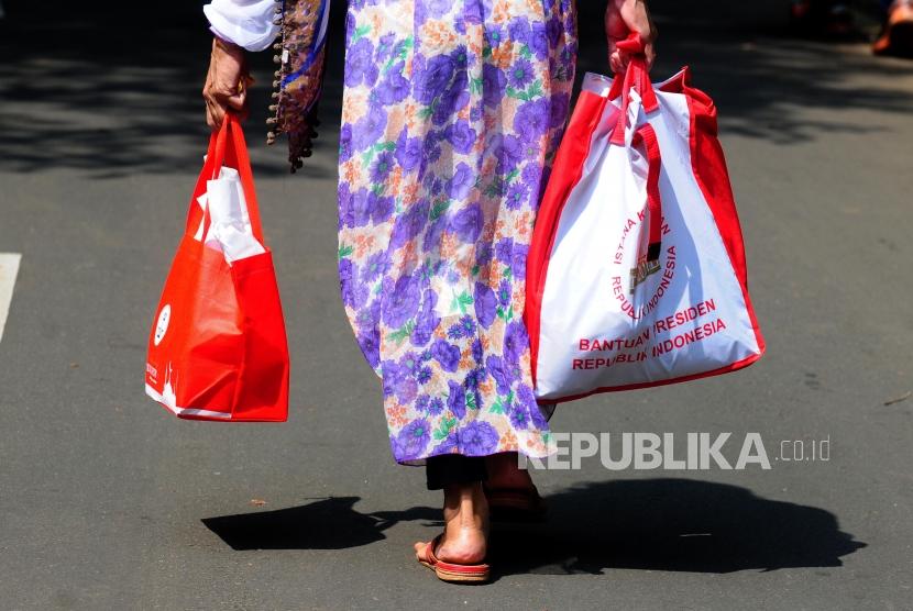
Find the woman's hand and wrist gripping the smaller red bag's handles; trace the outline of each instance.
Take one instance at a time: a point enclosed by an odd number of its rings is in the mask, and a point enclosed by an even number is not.
[[[248,86],[253,82],[248,73],[244,49],[221,38],[212,40],[209,74],[202,88],[206,100],[206,123],[218,130],[229,109],[241,119],[248,115]]]

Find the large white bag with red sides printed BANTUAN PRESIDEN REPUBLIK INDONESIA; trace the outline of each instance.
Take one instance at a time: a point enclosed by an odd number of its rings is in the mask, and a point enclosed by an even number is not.
[[[688,68],[656,86],[637,58],[624,79],[586,75],[527,282],[543,400],[724,374],[763,354],[716,109]]]

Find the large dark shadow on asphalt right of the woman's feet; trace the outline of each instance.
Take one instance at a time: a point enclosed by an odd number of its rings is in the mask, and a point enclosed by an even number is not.
[[[547,501],[547,527],[493,535],[492,562],[501,574],[835,567],[866,546],[840,532],[828,511],[711,481],[591,482]]]

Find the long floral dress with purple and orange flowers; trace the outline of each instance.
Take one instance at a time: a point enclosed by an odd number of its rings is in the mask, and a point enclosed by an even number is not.
[[[339,274],[394,457],[542,456],[526,257],[563,132],[573,0],[350,0]]]

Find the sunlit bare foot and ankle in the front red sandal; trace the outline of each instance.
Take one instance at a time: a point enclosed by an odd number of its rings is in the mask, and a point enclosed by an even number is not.
[[[482,563],[487,554],[488,502],[481,484],[444,490],[443,536],[435,549],[439,560],[460,565]],[[428,562],[427,542],[415,544],[416,558]]]

